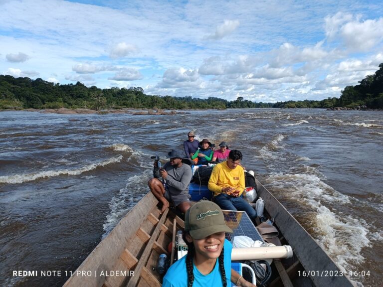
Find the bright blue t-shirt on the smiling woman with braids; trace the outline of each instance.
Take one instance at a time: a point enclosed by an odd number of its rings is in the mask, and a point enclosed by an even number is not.
[[[227,286],[231,286],[231,243],[226,240],[223,243],[223,266],[225,268]],[[163,280],[163,287],[186,287],[188,286],[188,272],[186,270],[186,257],[184,256],[173,264],[166,273]],[[219,271],[218,258],[213,271],[207,275],[201,274],[193,264],[194,281],[193,287],[222,287],[222,277]]]

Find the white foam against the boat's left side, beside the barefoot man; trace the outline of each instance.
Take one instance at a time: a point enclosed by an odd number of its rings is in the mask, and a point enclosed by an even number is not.
[[[125,214],[144,196],[149,187],[148,180],[153,176],[153,170],[147,169],[140,175],[134,175],[128,178],[125,188],[112,198],[109,203],[111,211],[106,216],[103,225],[105,233],[102,235],[104,239],[117,225],[117,223],[125,216]]]

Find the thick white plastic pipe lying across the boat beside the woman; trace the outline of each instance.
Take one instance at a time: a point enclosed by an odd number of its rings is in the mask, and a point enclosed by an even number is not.
[[[253,248],[233,248],[231,251],[231,260],[260,260],[291,258],[293,249],[290,245],[267,246]]]

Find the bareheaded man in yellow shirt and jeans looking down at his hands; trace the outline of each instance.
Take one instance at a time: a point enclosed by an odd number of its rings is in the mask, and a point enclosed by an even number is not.
[[[242,153],[233,149],[226,161],[214,166],[207,187],[214,192],[214,202],[226,210],[245,211],[255,222],[257,213],[243,199],[245,189],[245,172],[240,166]]]

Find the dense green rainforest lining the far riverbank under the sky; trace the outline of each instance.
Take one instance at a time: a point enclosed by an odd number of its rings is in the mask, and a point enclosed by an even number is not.
[[[140,87],[99,89],[76,84],[54,84],[40,78],[14,78],[0,75],[0,109],[87,108],[93,110],[119,108],[159,109],[227,109],[227,108],[334,108],[366,106],[383,109],[383,63],[374,75],[368,75],[356,86],[347,86],[340,98],[322,101],[287,101],[255,103],[238,97],[234,101],[209,97],[199,99],[146,95]]]

